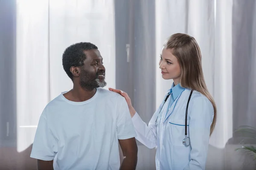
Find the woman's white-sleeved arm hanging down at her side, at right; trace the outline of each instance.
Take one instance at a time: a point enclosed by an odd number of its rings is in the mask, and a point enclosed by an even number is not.
[[[190,162],[184,170],[204,170],[209,146],[210,127],[213,119],[212,103],[204,96],[197,96],[189,107]]]

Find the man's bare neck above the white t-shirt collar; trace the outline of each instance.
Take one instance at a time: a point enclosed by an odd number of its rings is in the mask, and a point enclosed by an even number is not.
[[[80,86],[73,86],[73,89],[64,94],[64,96],[73,102],[84,102],[86,100],[89,100],[96,94],[96,88],[93,88],[92,90],[86,90],[84,88],[81,88]]]

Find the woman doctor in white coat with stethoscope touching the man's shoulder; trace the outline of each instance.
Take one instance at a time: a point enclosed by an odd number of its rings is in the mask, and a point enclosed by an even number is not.
[[[148,126],[125,92],[109,90],[125,97],[136,139],[148,148],[157,146],[157,170],[204,170],[216,106],[204,81],[195,38],[187,34],[169,37],[160,54],[159,68],[163,79],[174,82]]]

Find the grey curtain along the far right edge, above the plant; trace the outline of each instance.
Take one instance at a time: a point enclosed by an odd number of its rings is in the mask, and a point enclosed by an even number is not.
[[[233,0],[233,16],[233,126],[255,126],[256,1]]]

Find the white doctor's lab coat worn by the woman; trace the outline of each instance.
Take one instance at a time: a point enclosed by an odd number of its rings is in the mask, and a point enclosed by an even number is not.
[[[161,120],[157,125],[157,115],[163,102],[152,116],[148,126],[138,113],[135,113],[132,118],[137,133],[136,139],[148,148],[157,147],[155,159],[157,170],[205,169],[214,111],[212,103],[206,96],[193,91],[187,116],[187,135],[190,137],[190,145],[188,147],[183,145],[186,105],[190,92],[190,89],[185,89],[174,100],[166,114],[170,101],[168,99],[162,108],[162,114],[159,115]],[[166,96],[168,93],[169,91]]]

